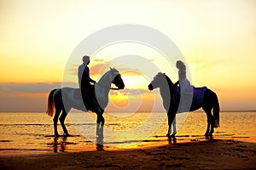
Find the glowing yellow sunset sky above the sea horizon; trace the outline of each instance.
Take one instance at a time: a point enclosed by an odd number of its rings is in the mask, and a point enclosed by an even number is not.
[[[216,92],[222,111],[256,111],[255,9],[253,0],[2,0],[0,111],[44,112],[49,91],[61,87],[67,61],[79,43],[96,31],[122,24],[148,26],[172,39],[186,59],[191,83]],[[91,59],[91,77],[97,80],[113,56],[127,54],[161,65],[177,81],[175,68],[168,70],[157,51],[138,43],[103,48]],[[70,68],[71,86],[77,86],[81,62]],[[107,111],[150,111],[154,102],[161,110],[158,91],[148,92],[147,87],[157,72],[143,77],[133,68],[117,69],[125,90],[111,92]]]

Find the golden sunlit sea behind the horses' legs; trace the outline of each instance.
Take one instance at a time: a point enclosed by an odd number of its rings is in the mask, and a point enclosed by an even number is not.
[[[104,113],[102,145],[105,149],[127,149],[169,144],[164,112]],[[96,150],[96,114],[71,112],[65,124],[66,137],[58,123],[55,138],[53,117],[43,112],[1,112],[0,153],[5,150],[49,152]],[[213,139],[234,139],[256,143],[256,111],[220,112],[220,127]],[[206,140],[207,115],[203,111],[180,113],[176,117],[177,143]]]

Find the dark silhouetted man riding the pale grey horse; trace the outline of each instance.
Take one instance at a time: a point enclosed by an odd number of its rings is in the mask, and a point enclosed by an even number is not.
[[[90,82],[95,83],[96,81],[90,78],[90,70],[88,65],[90,64],[90,57],[84,55],[83,64],[79,66],[79,88],[81,90],[84,105],[87,106],[91,94],[94,93],[93,85]]]

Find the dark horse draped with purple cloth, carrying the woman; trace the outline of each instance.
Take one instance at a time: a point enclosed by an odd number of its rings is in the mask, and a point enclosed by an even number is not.
[[[160,95],[163,100],[164,108],[167,112],[168,117],[168,132],[166,136],[169,139],[169,143],[176,143],[176,114],[180,111],[179,102],[181,101],[180,87],[173,84],[171,79],[166,76],[165,73],[158,73],[152,82],[148,84],[148,90],[154,88],[160,88]],[[212,133],[214,133],[214,127],[219,127],[219,104],[218,96],[211,89],[194,88],[193,87],[193,99],[191,97],[191,105],[188,108],[189,111],[196,111],[200,108],[207,114],[207,131],[204,134],[206,139],[212,139]],[[201,101],[199,101],[201,100]],[[173,127],[173,133],[172,133]]]

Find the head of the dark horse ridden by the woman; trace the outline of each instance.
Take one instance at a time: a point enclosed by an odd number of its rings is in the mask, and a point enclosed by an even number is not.
[[[160,88],[160,87],[165,87],[170,88],[173,85],[172,81],[170,80],[169,77],[166,76],[165,73],[159,72],[153,79],[150,84],[148,84],[148,89],[153,90],[154,88]]]

